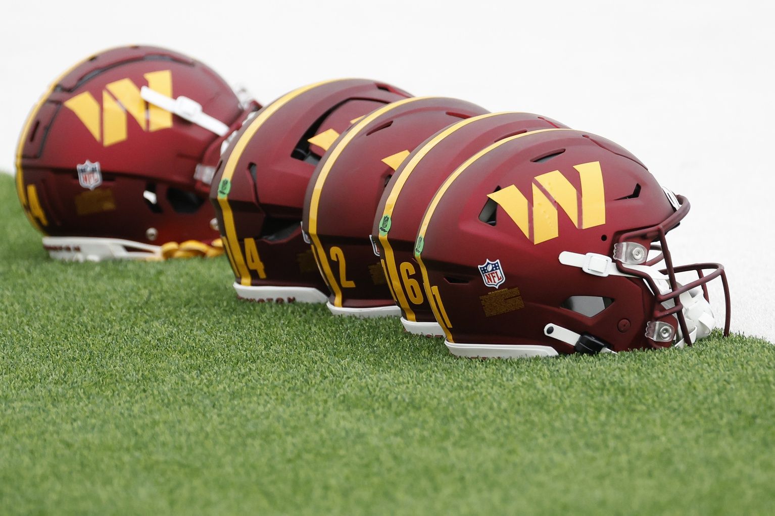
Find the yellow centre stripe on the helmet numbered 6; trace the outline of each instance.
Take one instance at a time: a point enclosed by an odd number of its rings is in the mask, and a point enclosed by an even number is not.
[[[424,146],[418,149],[412,159],[406,163],[404,170],[401,171],[401,174],[396,179],[395,184],[393,184],[390,192],[388,192],[387,199],[385,201],[384,215],[388,215],[390,217],[393,216],[393,210],[395,208],[395,203],[398,200],[398,194],[401,194],[401,189],[403,189],[406,181],[409,179],[409,176],[415,170],[415,167],[417,167],[418,163],[422,161],[425,155],[428,154],[433,149],[433,147],[438,145],[443,139],[445,139],[453,132],[457,131],[458,129],[463,129],[463,127],[467,126],[471,122],[476,122],[477,120],[487,119],[491,116],[501,114],[502,113],[485,113],[484,115],[472,116],[470,119],[460,120],[460,122],[456,122],[452,126],[444,129],[443,132],[440,132],[439,135],[437,135],[434,139],[428,143],[425,143]],[[385,255],[384,266],[387,267],[387,284],[392,285],[396,301],[398,301],[398,306],[400,306],[404,311],[406,319],[408,321],[416,322],[417,317],[415,316],[415,311],[412,310],[411,304],[409,304],[408,300],[406,299],[404,288],[401,287],[401,275],[398,273],[398,265],[395,261],[393,246],[391,246],[390,239],[387,238],[387,235],[388,233],[385,233],[384,235],[381,234],[379,236],[380,243],[382,244],[382,249],[384,250]]]

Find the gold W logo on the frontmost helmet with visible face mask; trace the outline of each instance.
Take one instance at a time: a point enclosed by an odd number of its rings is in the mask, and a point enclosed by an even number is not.
[[[577,228],[587,229],[605,224],[603,173],[599,161],[574,165],[581,180],[581,194],[560,170],[534,177],[532,182],[532,227],[529,202],[515,185],[487,194],[498,203],[532,243],[555,239],[557,206],[563,208]],[[581,206],[579,209],[579,201]]]

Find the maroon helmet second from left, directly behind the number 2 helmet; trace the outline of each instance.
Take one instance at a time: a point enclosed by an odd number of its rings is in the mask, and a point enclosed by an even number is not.
[[[301,235],[309,178],[340,132],[408,96],[366,79],[323,81],[278,98],[237,132],[210,200],[239,298],[325,302],[325,283]]]

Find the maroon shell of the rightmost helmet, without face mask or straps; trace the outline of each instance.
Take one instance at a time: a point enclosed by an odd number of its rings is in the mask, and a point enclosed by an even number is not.
[[[544,334],[552,323],[616,351],[648,347],[654,300],[643,281],[594,276],[559,256],[611,256],[618,235],[673,212],[649,170],[621,146],[587,132],[539,130],[494,143],[447,178],[425,212],[415,256],[449,342],[573,353]],[[637,243],[648,249],[650,241]],[[569,308],[581,296],[599,298],[601,311]]]

